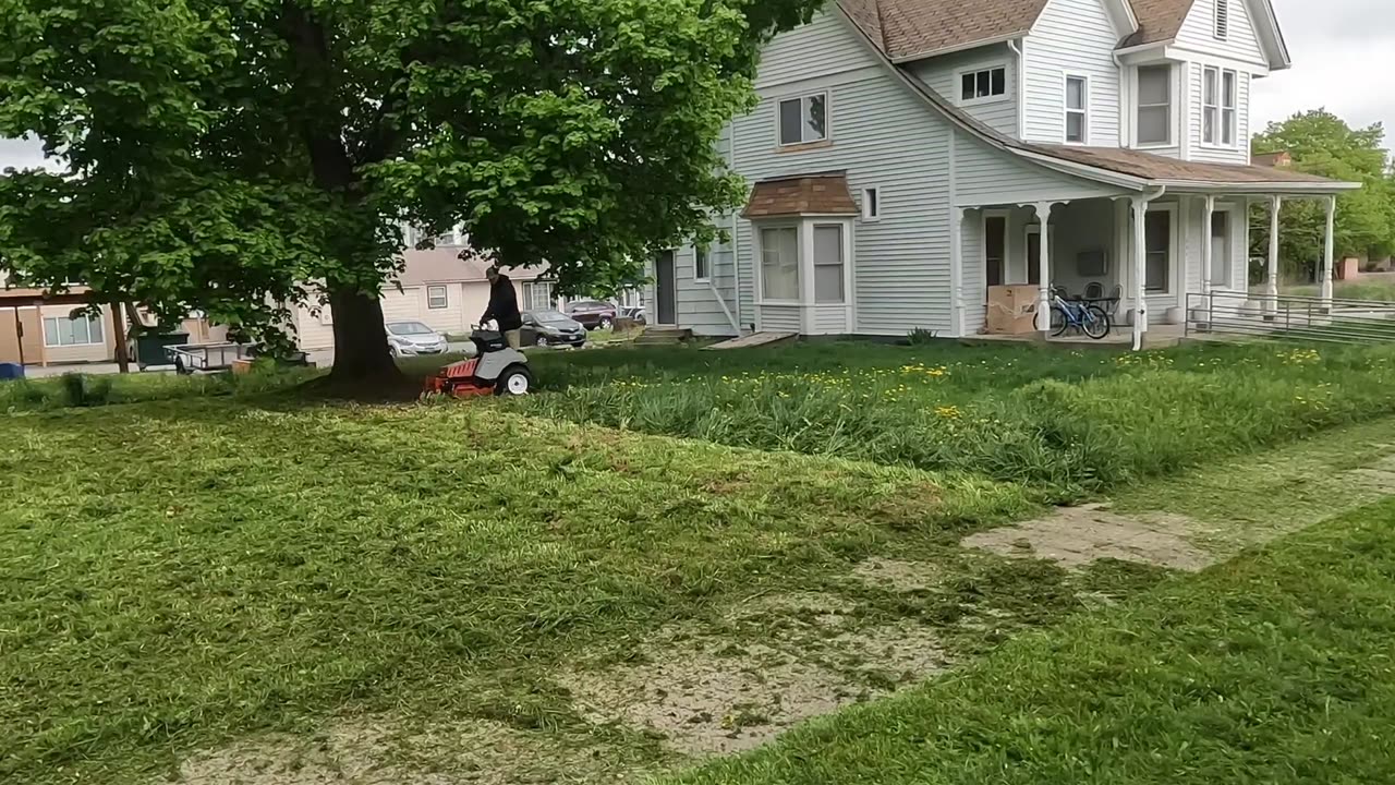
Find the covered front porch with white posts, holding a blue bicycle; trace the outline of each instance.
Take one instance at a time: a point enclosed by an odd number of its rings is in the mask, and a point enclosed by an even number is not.
[[[1299,196],[1321,198],[1327,204],[1327,251],[1320,270],[1322,298],[1329,303],[1335,194]],[[1218,295],[1218,303],[1208,302],[1209,310],[1235,305],[1237,309],[1274,311],[1278,217],[1286,198],[1295,196],[1242,194],[1219,187],[1211,193],[1168,193],[1159,189],[1145,196],[961,208],[964,334],[985,332],[989,288],[997,285],[1038,289],[1036,332],[1030,339],[1053,339],[1049,317],[1052,286],[1066,299],[1101,305],[1116,327],[1108,341],[1127,342],[1134,348],[1144,345],[1145,335],[1149,345],[1180,339],[1189,316],[1189,295]],[[1257,201],[1269,205],[1272,221],[1268,293],[1257,302],[1246,302],[1250,208]],[[1056,339],[1078,338],[1064,335]]]

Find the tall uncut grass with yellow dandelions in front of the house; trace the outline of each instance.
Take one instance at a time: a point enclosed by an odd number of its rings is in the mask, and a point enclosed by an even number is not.
[[[538,358],[518,411],[981,474],[1064,501],[1395,412],[1395,345],[1148,353],[810,342]]]

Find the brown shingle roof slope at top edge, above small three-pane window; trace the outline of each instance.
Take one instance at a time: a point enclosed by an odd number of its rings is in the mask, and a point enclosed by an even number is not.
[[[1036,24],[1048,0],[872,1],[882,18],[883,47],[896,60],[1023,35]]]

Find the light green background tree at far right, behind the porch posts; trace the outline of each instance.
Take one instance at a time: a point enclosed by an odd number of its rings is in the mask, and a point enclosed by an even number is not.
[[[1395,182],[1380,123],[1352,129],[1341,117],[1315,109],[1295,115],[1254,137],[1256,154],[1288,152],[1299,172],[1362,183],[1336,198],[1336,254],[1387,256],[1395,251]],[[1269,254],[1268,207],[1253,214],[1250,233],[1256,257]],[[1286,275],[1314,281],[1322,260],[1327,207],[1320,200],[1285,200],[1279,212],[1279,254]]]

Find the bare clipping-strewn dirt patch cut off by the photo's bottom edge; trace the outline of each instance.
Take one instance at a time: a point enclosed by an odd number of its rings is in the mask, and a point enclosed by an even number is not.
[[[476,721],[406,732],[356,719],[301,739],[272,736],[186,760],[180,785],[505,785],[639,779],[598,749]]]

